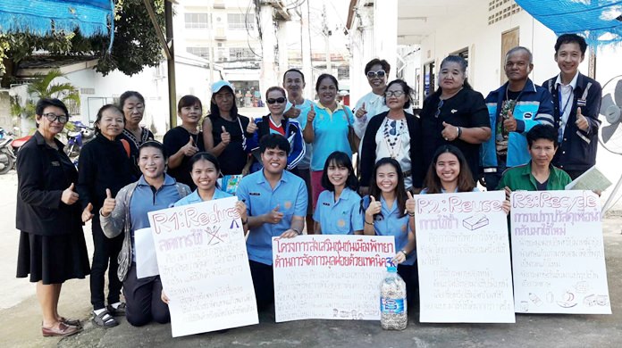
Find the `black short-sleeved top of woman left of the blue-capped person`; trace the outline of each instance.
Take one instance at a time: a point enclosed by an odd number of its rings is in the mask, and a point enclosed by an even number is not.
[[[166,155],[170,157],[180,151],[181,147],[188,144],[190,137],[192,137],[195,146],[198,147],[198,151],[206,151],[206,146],[203,145],[203,132],[198,132],[197,135],[193,135],[190,134],[186,128],[178,126],[172,128],[164,135],[164,151],[166,151]],[[190,189],[194,190],[197,186],[192,182],[189,162],[190,157],[184,156],[179,167],[169,168],[166,172],[178,182],[186,184],[190,186]]]

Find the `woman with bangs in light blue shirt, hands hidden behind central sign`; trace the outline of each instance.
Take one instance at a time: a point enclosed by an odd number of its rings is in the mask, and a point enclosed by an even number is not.
[[[362,235],[363,209],[357,194],[358,180],[348,153],[335,151],[328,156],[322,174],[326,188],[317,199],[313,214],[315,233],[324,235]]]

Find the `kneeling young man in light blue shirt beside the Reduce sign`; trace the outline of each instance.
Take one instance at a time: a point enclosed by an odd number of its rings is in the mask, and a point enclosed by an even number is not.
[[[290,142],[269,134],[261,138],[259,149],[264,167],[242,178],[236,195],[247,206],[248,263],[261,311],[274,302],[272,237],[300,235],[308,201],[305,182],[285,170]]]

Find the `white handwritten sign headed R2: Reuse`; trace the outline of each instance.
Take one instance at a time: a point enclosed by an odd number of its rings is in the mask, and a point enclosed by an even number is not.
[[[515,322],[502,191],[416,196],[421,322]]]

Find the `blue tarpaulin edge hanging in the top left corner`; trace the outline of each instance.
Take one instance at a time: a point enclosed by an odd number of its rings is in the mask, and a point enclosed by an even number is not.
[[[80,29],[85,37],[107,36],[112,0],[0,0],[0,33],[46,35]]]

